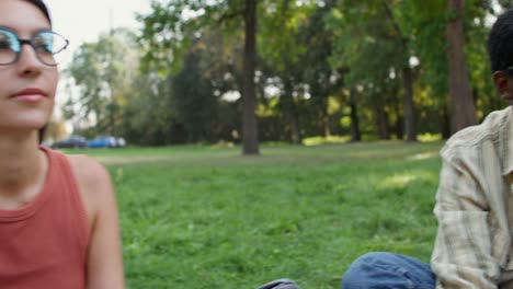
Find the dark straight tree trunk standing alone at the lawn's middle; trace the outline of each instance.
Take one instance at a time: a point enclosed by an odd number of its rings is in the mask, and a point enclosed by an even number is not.
[[[242,153],[259,154],[254,67],[256,56],[256,0],[246,0],[243,62]]]

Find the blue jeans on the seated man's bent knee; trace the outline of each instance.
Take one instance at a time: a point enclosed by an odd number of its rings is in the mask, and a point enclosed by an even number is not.
[[[398,254],[376,252],[358,257],[342,278],[343,289],[434,289],[429,264]]]

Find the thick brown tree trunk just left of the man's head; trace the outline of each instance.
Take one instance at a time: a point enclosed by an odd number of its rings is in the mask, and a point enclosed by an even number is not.
[[[451,95],[453,134],[477,124],[470,81],[464,54],[464,11],[465,0],[448,0],[446,26],[448,86]]]

